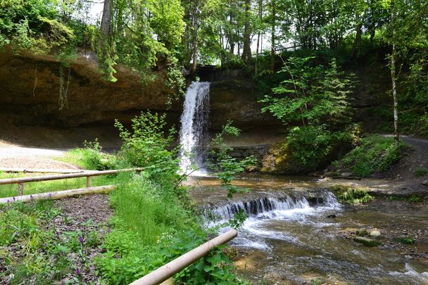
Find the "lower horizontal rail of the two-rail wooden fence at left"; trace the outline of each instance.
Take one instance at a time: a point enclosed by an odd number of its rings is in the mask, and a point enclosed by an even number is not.
[[[0,198],[0,203],[13,203],[18,201],[29,202],[29,201],[37,201],[37,200],[54,200],[54,199],[85,195],[85,194],[100,194],[100,193],[107,193],[109,191],[112,191],[116,187],[117,187],[116,185],[105,185],[105,186],[86,187],[86,188],[80,188],[80,189],[71,189],[71,190],[38,193],[38,194],[31,194],[31,195],[24,195],[24,196]]]

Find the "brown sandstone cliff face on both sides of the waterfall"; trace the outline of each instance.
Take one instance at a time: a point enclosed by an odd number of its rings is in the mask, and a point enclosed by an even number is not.
[[[153,71],[156,80],[141,85],[137,72],[116,67],[117,82],[106,82],[98,71],[96,57],[81,54],[63,68],[67,105],[60,109],[60,63],[54,56],[16,56],[0,53],[0,117],[18,125],[75,127],[113,125],[114,119],[129,122],[141,110],[167,113],[167,120],[180,126],[183,98],[167,103],[174,91],[165,86],[165,70]],[[70,77],[68,77],[70,72]],[[213,132],[227,120],[248,130],[277,128],[279,122],[260,112],[258,91],[251,80],[213,82],[210,87],[210,121]]]

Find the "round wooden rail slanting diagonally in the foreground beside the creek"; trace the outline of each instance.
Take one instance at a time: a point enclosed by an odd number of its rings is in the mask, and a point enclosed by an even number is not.
[[[236,229],[231,229],[224,234],[220,234],[220,236],[217,236],[215,239],[211,239],[210,241],[203,243],[203,245],[192,249],[188,253],[184,253],[184,255],[180,256],[179,258],[175,258],[175,260],[172,260],[166,265],[159,267],[157,270],[154,270],[146,276],[141,277],[140,279],[132,282],[130,285],[158,285],[172,277],[177,272],[180,272],[187,266],[191,265],[196,260],[199,260],[199,258],[207,255],[211,249],[215,248],[215,246],[227,243],[228,241],[231,241],[237,237],[237,235],[238,232]]]

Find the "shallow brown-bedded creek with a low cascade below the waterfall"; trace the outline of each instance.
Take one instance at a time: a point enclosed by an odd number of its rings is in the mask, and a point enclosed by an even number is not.
[[[252,191],[232,201],[215,179],[194,177],[191,184],[211,224],[239,209],[248,213],[232,246],[239,251],[235,264],[253,284],[310,284],[319,277],[330,284],[428,284],[428,260],[408,254],[428,253],[426,211],[384,210],[394,203],[346,207],[308,177],[243,177],[235,184]],[[420,234],[415,245],[394,243],[393,235],[403,234],[394,225]],[[384,244],[356,243],[357,229],[379,229]]]

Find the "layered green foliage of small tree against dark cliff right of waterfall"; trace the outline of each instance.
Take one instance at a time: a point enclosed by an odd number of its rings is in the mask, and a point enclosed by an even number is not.
[[[312,66],[314,57],[290,57],[279,73],[286,77],[272,88],[272,95],[260,100],[262,112],[270,112],[284,125],[303,122],[303,125],[341,122],[351,118],[348,95],[351,80],[339,72],[333,58],[328,68]]]

